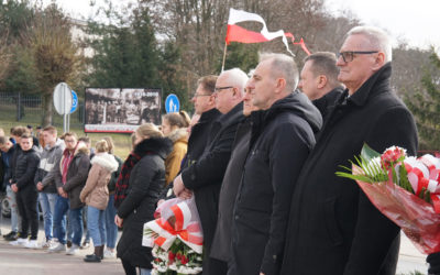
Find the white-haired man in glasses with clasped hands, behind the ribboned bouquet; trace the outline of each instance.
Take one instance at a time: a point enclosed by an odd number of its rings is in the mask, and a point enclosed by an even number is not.
[[[241,69],[223,72],[216,81],[216,109],[223,116],[215,122],[219,129],[201,157],[174,180],[174,194],[179,197],[196,196],[204,231],[204,273],[226,274],[224,262],[210,257],[211,243],[217,224],[218,202],[224,170],[231,156],[237,128],[242,121],[244,86],[248,76]],[[191,135],[194,132],[191,133]]]

